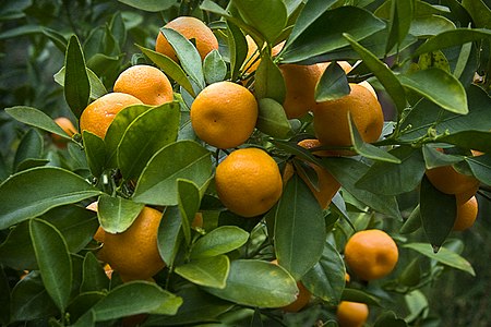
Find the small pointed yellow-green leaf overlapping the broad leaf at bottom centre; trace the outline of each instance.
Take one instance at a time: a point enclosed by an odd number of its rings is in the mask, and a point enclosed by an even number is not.
[[[209,256],[194,259],[176,267],[176,274],[189,281],[209,288],[225,288],[230,261],[226,255]]]

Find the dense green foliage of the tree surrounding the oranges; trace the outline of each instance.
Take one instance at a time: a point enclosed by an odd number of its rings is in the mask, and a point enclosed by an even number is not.
[[[173,81],[177,100],[123,109],[104,140],[86,131],[70,137],[45,110],[5,109],[32,129],[1,177],[1,322],[89,326],[146,313],[144,324],[158,326],[241,319],[313,325],[334,322],[335,306],[348,300],[374,307],[380,313],[376,326],[431,323],[421,289],[448,267],[475,271],[458,254],[462,242],[448,239],[455,198],[435,190],[424,170],[454,165],[480,180],[484,196],[486,185],[491,185],[491,11],[484,2],[122,2],[145,11],[178,8],[179,14],[211,17],[220,50],[202,62],[192,40],[161,28],[180,59],[177,64],[141,43],[132,61],[160,68]],[[67,37],[46,27],[32,32],[43,33],[64,53],[55,81],[63,86],[74,118],[106,94],[128,64],[122,55],[128,28],[122,15],[115,14],[87,35]],[[254,76],[244,74],[246,34],[264,45]],[[283,50],[272,59],[272,47],[283,40]],[[348,76],[332,64],[318,85],[316,99],[343,96],[348,82],[369,78],[394,114],[376,144],[363,143],[351,125],[357,156],[320,159],[297,146],[297,141],[313,136],[312,117],[287,120],[278,65],[340,60],[360,63]],[[197,140],[189,121],[195,95],[224,80],[247,81],[259,99],[258,131],[249,145],[268,150],[282,167],[301,159],[328,169],[339,181],[342,192],[327,210],[298,174],[262,217],[244,219],[224,208],[213,173],[226,152]],[[39,131],[64,137],[67,149],[46,155]],[[436,147],[457,152],[442,154]],[[472,157],[470,149],[486,154]],[[315,184],[314,174],[302,167]],[[418,201],[407,215],[399,203],[415,192]],[[97,216],[85,209],[94,199],[99,203]],[[167,267],[155,282],[122,283],[117,274],[109,280],[96,259],[93,235],[99,225],[108,232],[124,231],[144,205],[164,211],[158,247]],[[202,228],[191,227],[197,211],[204,216]],[[367,228],[388,230],[402,252],[408,250],[408,258],[404,256],[392,280],[367,286],[354,276],[346,284],[344,244],[355,230]],[[267,263],[273,258],[282,267]],[[28,274],[21,278],[24,270]],[[277,307],[295,299],[299,280],[315,300],[303,312],[285,315]],[[405,301],[406,310],[397,301]]]

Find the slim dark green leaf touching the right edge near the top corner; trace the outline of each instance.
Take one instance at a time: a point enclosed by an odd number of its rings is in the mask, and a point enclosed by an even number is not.
[[[412,58],[416,58],[422,53],[489,38],[490,36],[491,31],[480,28],[456,28],[442,32],[429,38],[424,44],[417,48],[415,52],[412,52]]]

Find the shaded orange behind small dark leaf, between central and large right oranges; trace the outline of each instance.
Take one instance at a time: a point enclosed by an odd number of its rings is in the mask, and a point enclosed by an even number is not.
[[[300,118],[315,107],[315,85],[322,75],[316,64],[282,64],[286,95],[283,107],[288,119]]]

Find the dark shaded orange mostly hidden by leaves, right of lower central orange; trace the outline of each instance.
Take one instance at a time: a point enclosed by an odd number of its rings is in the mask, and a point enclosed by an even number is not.
[[[303,140],[299,142],[298,145],[304,148],[311,148],[315,147],[318,143],[315,142],[315,140]],[[339,191],[340,184],[325,168],[319,167],[318,165],[313,165],[311,162],[308,162],[308,165],[312,167],[318,174],[319,191],[315,190],[314,185],[303,173],[299,173],[299,175],[307,183],[310,191],[312,191],[313,195],[321,205],[321,208],[325,209],[331,204],[333,196],[337,193],[337,191]]]

